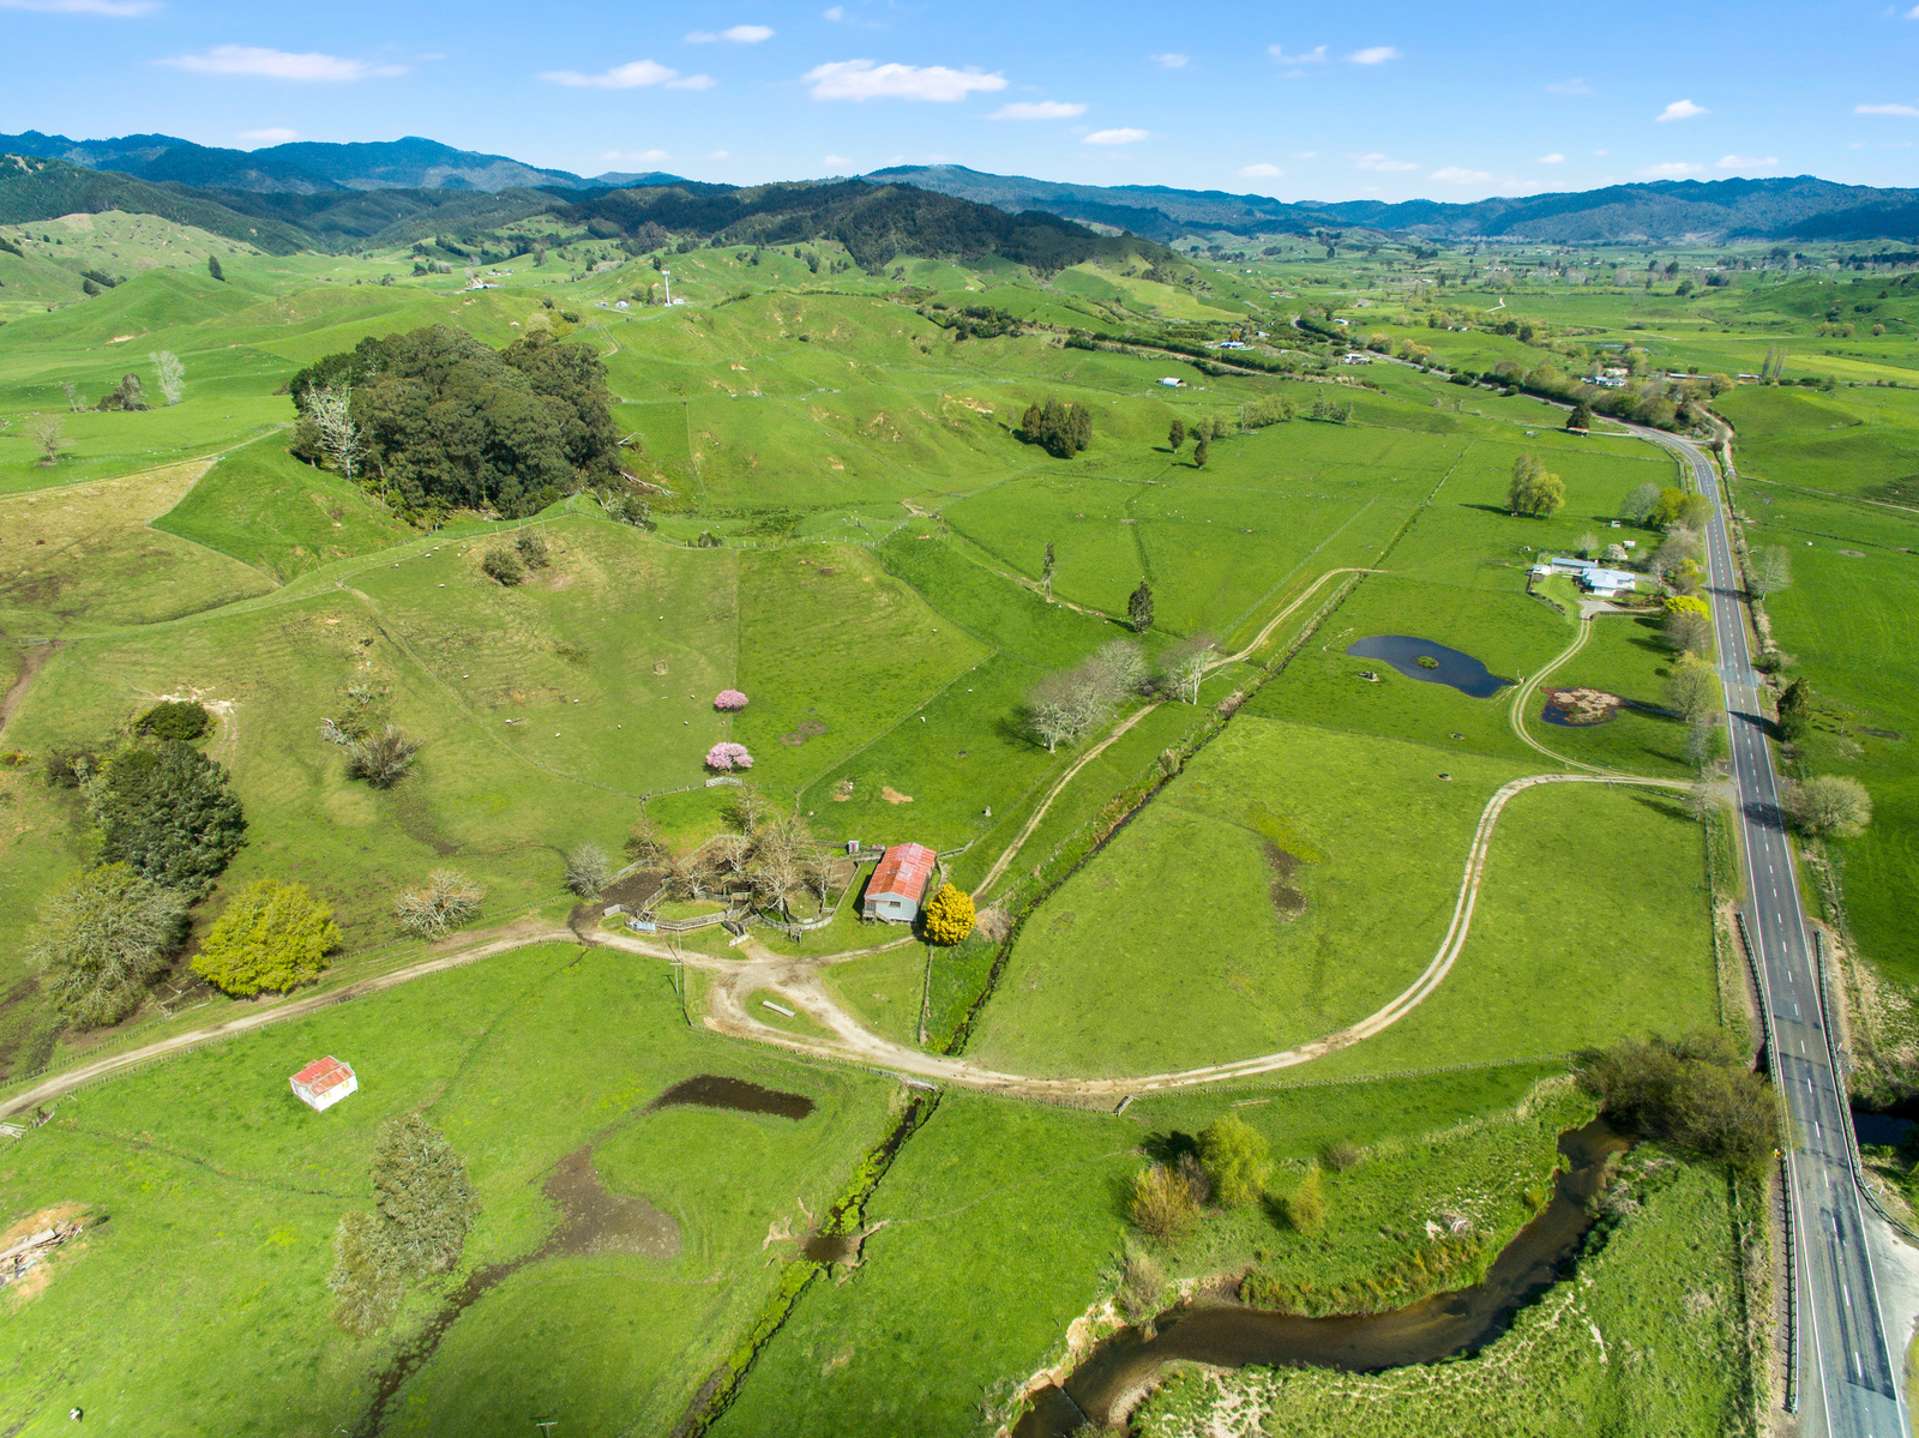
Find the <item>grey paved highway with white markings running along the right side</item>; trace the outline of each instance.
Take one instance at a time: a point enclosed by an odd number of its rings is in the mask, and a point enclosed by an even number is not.
[[[1693,467],[1700,493],[1712,499],[1708,591],[1746,862],[1746,935],[1777,1039],[1773,1081],[1785,1092],[1790,1117],[1787,1171],[1798,1225],[1800,1432],[1808,1438],[1906,1438],[1906,1405],[1867,1250],[1869,1219],[1848,1162],[1852,1115],[1829,1058],[1812,933],[1781,816],[1779,772],[1760,707],[1718,474],[1696,445],[1656,430],[1639,434],[1679,453]]]

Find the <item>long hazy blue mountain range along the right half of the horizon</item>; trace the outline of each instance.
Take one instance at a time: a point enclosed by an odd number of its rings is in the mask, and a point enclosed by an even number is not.
[[[917,184],[1000,209],[1044,209],[1065,219],[1123,227],[1153,240],[1207,230],[1311,234],[1324,228],[1368,228],[1428,240],[1547,244],[1919,240],[1919,190],[1833,184],[1812,175],[1656,180],[1470,204],[1286,202],[1161,184],[1061,184],[1023,175],[986,175],[963,165],[894,165],[865,179],[879,184]]]

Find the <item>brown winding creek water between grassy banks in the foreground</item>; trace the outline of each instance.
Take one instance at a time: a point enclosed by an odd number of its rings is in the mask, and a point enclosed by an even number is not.
[[[1608,1160],[1627,1140],[1604,1119],[1560,1135],[1562,1169],[1552,1200],[1514,1234],[1485,1279],[1389,1313],[1324,1319],[1247,1307],[1226,1296],[1161,1313],[1149,1329],[1121,1329],[1067,1377],[1034,1396],[1013,1438],[1069,1438],[1084,1423],[1107,1426],[1144,1394],[1167,1363],[1217,1367],[1328,1367],[1378,1373],[1410,1363],[1472,1355],[1564,1279],[1595,1223],[1593,1198]]]

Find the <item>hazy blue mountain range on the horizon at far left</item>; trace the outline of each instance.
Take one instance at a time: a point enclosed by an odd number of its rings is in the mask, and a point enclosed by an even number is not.
[[[297,140],[265,150],[221,150],[173,134],[123,134],[117,140],[69,140],[65,134],[0,134],[0,154],[63,159],[81,169],[109,169],[140,180],[171,180],[255,194],[322,194],[328,190],[587,190],[674,180],[662,173],[612,173],[583,179],[564,169],[524,165],[507,156],[455,150],[409,134],[370,144]]]

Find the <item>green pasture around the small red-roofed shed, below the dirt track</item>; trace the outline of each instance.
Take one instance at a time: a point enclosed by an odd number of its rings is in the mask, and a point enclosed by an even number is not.
[[[322,1052],[361,1092],[301,1108],[286,1075]],[[539,1079],[530,1081],[537,1071]],[[800,1121],[647,1104],[702,1071],[800,1092]],[[447,1329],[386,1432],[499,1432],[537,1409],[589,1430],[672,1426],[745,1332],[817,1215],[887,1125],[892,1085],[689,1031],[664,970],[545,947],[297,1019],[100,1085],[0,1156],[6,1219],[81,1204],[98,1227],[0,1334],[0,1415],[63,1432],[330,1434],[459,1281],[539,1248],[543,1192],[580,1148],[614,1194],[666,1215],[672,1252],[557,1256]],[[367,1208],[374,1131],[422,1112],[461,1152],[478,1219],[461,1267],[393,1327],[334,1327],[324,1279],[340,1215]],[[129,1348],[123,1334],[142,1329]],[[530,1338],[533,1338],[530,1342]],[[205,1354],[219,1352],[219,1363]],[[532,1405],[532,1407],[530,1407]]]

